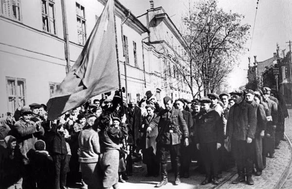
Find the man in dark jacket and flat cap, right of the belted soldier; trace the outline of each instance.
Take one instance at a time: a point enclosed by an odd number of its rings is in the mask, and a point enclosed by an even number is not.
[[[195,142],[201,151],[201,158],[206,171],[206,178],[201,183],[219,184],[219,148],[223,143],[223,121],[217,111],[210,108],[212,101],[201,98],[201,113],[195,125]]]

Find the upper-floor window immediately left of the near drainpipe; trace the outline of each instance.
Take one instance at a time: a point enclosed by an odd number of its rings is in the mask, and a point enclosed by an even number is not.
[[[41,0],[43,30],[56,34],[54,0]]]

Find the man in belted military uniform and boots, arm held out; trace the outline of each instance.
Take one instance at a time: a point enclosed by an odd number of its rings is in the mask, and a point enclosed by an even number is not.
[[[147,132],[151,132],[154,127],[158,127],[159,133],[156,138],[157,150],[160,153],[161,163],[161,177],[162,180],[156,187],[162,187],[167,184],[167,156],[175,160],[175,185],[181,183],[180,180],[180,156],[181,156],[181,140],[183,139],[184,145],[188,146],[188,129],[183,120],[182,111],[173,107],[173,102],[170,97],[163,99],[165,109],[158,113],[157,118],[152,120],[147,128]]]

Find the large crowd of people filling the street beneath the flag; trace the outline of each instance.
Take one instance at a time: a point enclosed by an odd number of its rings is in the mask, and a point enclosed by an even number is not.
[[[0,189],[118,189],[133,174],[133,159],[146,176],[168,183],[167,158],[175,185],[190,176],[191,161],[206,174],[202,185],[219,184],[223,171],[237,167],[233,184],[253,185],[266,157],[285,140],[288,111],[268,87],[210,93],[207,97],[166,96],[164,107],[151,91],[141,101],[116,92],[47,120],[45,104],[32,103],[0,120]]]

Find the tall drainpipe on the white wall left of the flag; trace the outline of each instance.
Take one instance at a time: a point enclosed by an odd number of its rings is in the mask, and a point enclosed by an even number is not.
[[[67,15],[66,15],[66,5],[65,0],[61,0],[62,6],[62,20],[63,20],[63,34],[64,34],[64,50],[65,50],[65,59],[66,59],[66,74],[70,71],[70,51],[69,51],[69,34],[68,34],[68,25],[67,25]]]

